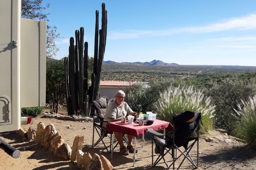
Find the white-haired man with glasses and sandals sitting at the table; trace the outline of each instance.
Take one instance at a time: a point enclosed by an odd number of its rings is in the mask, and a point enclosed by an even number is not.
[[[119,90],[115,94],[115,100],[111,102],[107,106],[107,111],[105,115],[105,119],[108,122],[116,122],[121,121],[121,117],[134,115],[135,112],[129,107],[129,105],[124,102],[125,99],[125,92]],[[115,132],[115,137],[120,145],[120,152],[123,155],[129,155],[129,152],[134,153],[134,146],[133,146],[133,137],[132,135],[128,135],[128,145],[127,148],[123,145],[123,133]],[[138,149],[136,149],[136,153]]]

